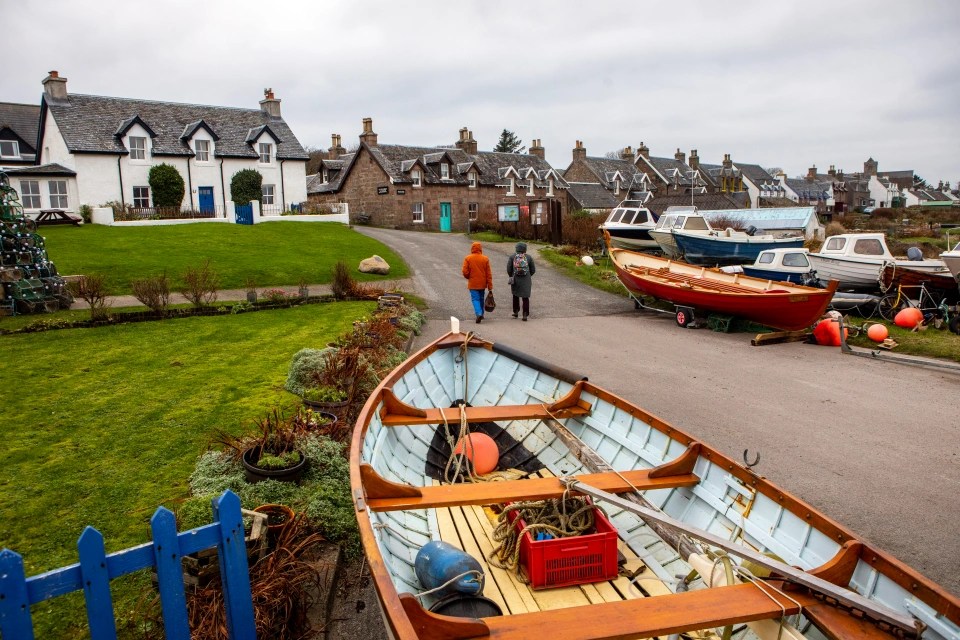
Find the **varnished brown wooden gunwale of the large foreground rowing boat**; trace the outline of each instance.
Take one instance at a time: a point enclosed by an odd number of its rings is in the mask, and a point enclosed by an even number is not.
[[[407,372],[413,369],[422,360],[429,357],[434,352],[445,348],[458,348],[465,340],[469,339],[470,346],[474,348],[484,348],[494,351],[494,343],[478,338],[473,334],[447,333],[440,336],[433,342],[427,344],[415,354],[411,355],[400,366],[391,371],[380,382],[377,388],[370,394],[366,403],[360,411],[354,426],[354,432],[351,439],[350,449],[350,486],[351,497],[354,502],[354,508],[357,515],[358,527],[363,549],[370,565],[370,572],[374,580],[374,585],[383,608],[384,618],[390,627],[390,631],[397,640],[414,639],[422,637],[410,620],[400,593],[391,578],[390,572],[383,559],[382,552],[377,543],[373,531],[373,525],[370,519],[370,512],[366,506],[366,496],[364,493],[363,480],[360,474],[360,463],[363,455],[363,441],[369,429],[370,422],[376,415],[377,408],[382,403],[383,391],[392,388],[393,385]],[[520,353],[512,350],[513,353]],[[509,357],[505,355],[504,357]],[[535,358],[530,360],[536,361]],[[549,373],[549,372],[547,372]],[[801,518],[809,523],[811,527],[819,530],[823,535],[835,539],[840,549],[838,553],[843,553],[845,545],[850,543],[859,543],[858,559],[887,577],[894,584],[904,589],[908,594],[912,594],[927,606],[930,606],[947,620],[954,624],[960,624],[960,598],[953,596],[943,587],[933,580],[920,574],[904,562],[894,556],[873,547],[870,543],[858,538],[850,530],[846,529],[838,522],[832,520],[826,515],[820,513],[813,506],[800,498],[784,491],[777,484],[770,480],[755,474],[753,471],[743,467],[739,462],[724,455],[720,451],[713,449],[699,440],[696,440],[686,432],[678,429],[638,405],[596,386],[586,380],[584,391],[593,394],[598,399],[603,400],[612,406],[625,411],[629,415],[643,420],[651,428],[660,431],[664,435],[676,440],[680,444],[689,447],[693,443],[700,444],[700,457],[725,470],[745,485],[753,488],[767,498],[779,504],[786,511],[794,516]],[[822,566],[827,566],[828,561]],[[811,571],[815,571],[812,569]],[[841,585],[848,587],[848,585]],[[411,596],[412,597],[412,596]],[[426,609],[424,609],[426,611]],[[430,614],[433,616],[434,614]],[[440,616],[445,617],[445,616]]]

